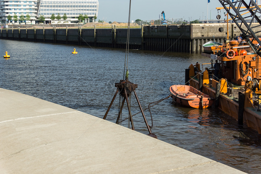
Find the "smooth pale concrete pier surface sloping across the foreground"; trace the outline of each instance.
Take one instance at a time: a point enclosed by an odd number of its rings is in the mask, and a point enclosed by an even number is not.
[[[244,173],[95,116],[0,88],[0,173]]]

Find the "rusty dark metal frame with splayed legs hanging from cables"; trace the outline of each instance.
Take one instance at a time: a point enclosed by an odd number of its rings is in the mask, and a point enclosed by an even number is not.
[[[135,130],[134,129],[134,123],[133,123],[132,115],[131,115],[131,107],[130,107],[130,103],[129,103],[129,100],[128,100],[128,97],[133,92],[134,95],[135,95],[135,98],[137,100],[137,103],[138,103],[138,105],[140,107],[141,114],[142,114],[142,116],[144,118],[144,122],[145,122],[145,124],[147,126],[147,129],[149,131],[148,135],[153,137],[153,138],[157,138],[157,136],[155,134],[151,133],[151,128],[148,125],[148,122],[146,120],[146,117],[145,117],[144,112],[143,112],[142,107],[141,107],[141,103],[140,103],[139,98],[137,96],[137,93],[135,91],[135,89],[138,87],[138,85],[134,84],[134,83],[131,83],[129,80],[126,79],[126,80],[120,80],[120,83],[115,83],[115,87],[117,87],[116,93],[114,94],[114,96],[113,96],[113,98],[112,98],[112,100],[110,102],[110,105],[109,105],[109,107],[108,107],[108,109],[107,109],[107,111],[106,111],[106,113],[105,113],[105,115],[103,117],[103,119],[104,120],[106,119],[107,114],[110,111],[110,108],[111,108],[111,106],[112,106],[112,104],[113,104],[117,94],[119,93],[123,97],[123,101],[122,101],[122,104],[121,104],[121,107],[120,107],[120,110],[119,110],[119,113],[118,113],[116,124],[119,124],[119,120],[120,120],[120,116],[121,116],[122,109],[123,109],[123,106],[124,106],[124,102],[126,101],[127,107],[128,107],[128,111],[129,111],[129,119],[131,121],[131,129]]]

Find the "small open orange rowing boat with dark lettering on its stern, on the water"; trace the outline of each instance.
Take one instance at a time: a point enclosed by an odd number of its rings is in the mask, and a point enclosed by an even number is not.
[[[188,85],[172,85],[169,91],[173,100],[187,107],[207,108],[214,101],[214,98]]]

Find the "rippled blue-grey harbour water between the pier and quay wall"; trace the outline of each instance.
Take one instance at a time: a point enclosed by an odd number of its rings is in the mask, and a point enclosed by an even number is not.
[[[71,52],[76,48],[78,54]],[[33,43],[0,39],[0,87],[41,98],[103,118],[114,95],[114,83],[124,78],[124,49]],[[2,55],[2,56],[3,56]],[[184,84],[185,68],[209,62],[198,54],[130,50],[129,80],[137,83],[143,108],[169,95],[173,84]],[[116,97],[107,120],[116,121]],[[131,111],[139,111],[135,97]],[[173,104],[171,98],[151,108],[152,132],[158,139],[247,173],[261,171],[261,135],[239,128],[237,121],[211,107],[198,110]],[[145,111],[149,124],[150,114]],[[127,117],[127,106],[123,119]],[[147,134],[141,114],[134,126]],[[127,127],[127,121],[122,122]]]

